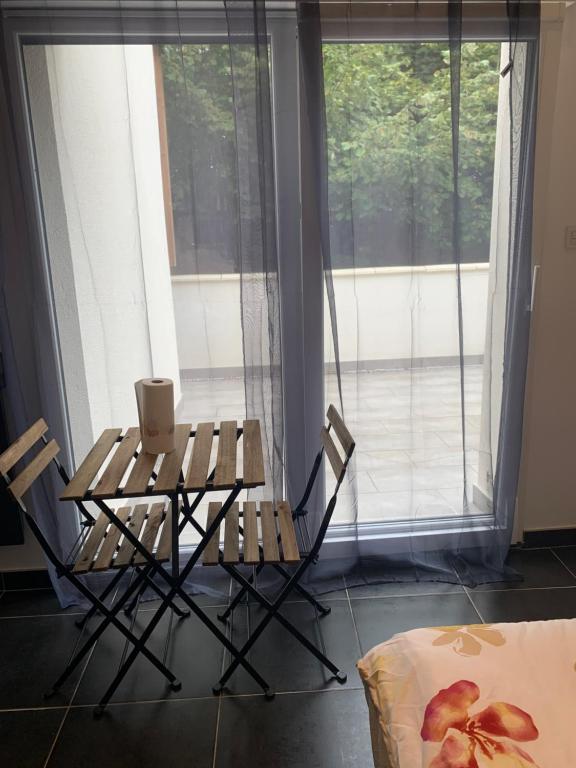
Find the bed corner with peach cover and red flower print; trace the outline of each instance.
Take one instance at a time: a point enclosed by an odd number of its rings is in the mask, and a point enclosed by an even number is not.
[[[576,620],[415,629],[358,670],[376,768],[576,766]]]

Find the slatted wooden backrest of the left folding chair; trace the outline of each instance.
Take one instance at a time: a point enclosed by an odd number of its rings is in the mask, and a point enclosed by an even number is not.
[[[56,461],[56,456],[60,452],[60,447],[56,440],[52,439],[48,441],[45,438],[47,431],[48,425],[44,419],[38,419],[38,421],[27,429],[23,435],[0,454],[0,473],[8,487],[9,493],[19,503],[24,512],[26,512],[26,507],[24,506],[22,497],[32,483],[37,480],[42,472],[49,466],[50,462]],[[15,465],[23,459],[29,451],[37,447],[39,443],[42,445],[42,448],[15,477],[12,477],[12,470]]]

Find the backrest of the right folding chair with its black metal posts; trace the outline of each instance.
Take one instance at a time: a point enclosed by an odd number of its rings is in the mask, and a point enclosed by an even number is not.
[[[330,525],[330,520],[332,519],[332,514],[334,513],[334,507],[336,506],[336,502],[338,500],[338,491],[340,489],[340,485],[344,480],[346,470],[348,469],[348,464],[352,454],[354,453],[354,448],[356,447],[356,443],[354,442],[354,438],[350,434],[348,427],[333,405],[330,405],[326,415],[328,418],[328,426],[322,427],[320,432],[322,448],[320,449],[320,453],[318,454],[314,463],[314,468],[312,470],[312,474],[310,475],[310,480],[308,481],[305,497],[307,498],[309,495],[311,487],[316,479],[323,454],[325,454],[328,458],[330,466],[332,467],[332,471],[334,472],[334,476],[336,478],[336,487],[334,489],[334,493],[330,497],[330,501],[328,502],[328,506],[326,507],[324,517],[322,518],[322,522],[318,530],[318,534],[311,548],[311,556],[313,557],[318,554],[320,547],[322,546],[322,542],[324,541],[324,536],[326,535],[326,531]],[[337,441],[332,439],[333,434],[336,435]]]

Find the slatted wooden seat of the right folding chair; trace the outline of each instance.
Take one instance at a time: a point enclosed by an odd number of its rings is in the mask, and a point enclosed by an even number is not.
[[[212,525],[221,509],[220,502],[210,502],[206,529]],[[224,525],[224,552],[220,554],[219,526],[204,549],[204,565],[217,565],[220,560],[230,565],[300,561],[292,510],[287,501],[279,502],[276,509],[271,501],[260,502],[259,509],[256,502],[246,501],[242,510],[240,504],[235,502],[221,525]]]

